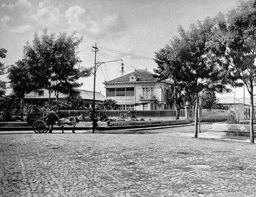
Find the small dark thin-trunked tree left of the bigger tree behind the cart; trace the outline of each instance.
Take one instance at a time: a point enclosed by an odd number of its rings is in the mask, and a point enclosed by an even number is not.
[[[21,120],[23,120],[23,106],[24,97],[27,93],[35,90],[35,83],[29,73],[29,67],[25,60],[19,60],[15,62],[15,65],[11,65],[8,69],[11,87],[17,98],[21,99]]]

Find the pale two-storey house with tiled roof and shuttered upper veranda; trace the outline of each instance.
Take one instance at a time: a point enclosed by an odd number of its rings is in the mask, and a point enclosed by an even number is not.
[[[168,82],[157,82],[147,70],[136,70],[103,84],[106,99],[117,101],[120,110],[167,110],[163,90]]]

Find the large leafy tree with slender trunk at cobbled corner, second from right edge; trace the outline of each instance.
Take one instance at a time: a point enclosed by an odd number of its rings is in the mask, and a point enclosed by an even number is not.
[[[185,92],[191,95],[194,103],[195,133],[198,137],[198,102],[199,92],[211,90],[214,92],[229,91],[226,85],[229,82],[225,77],[226,71],[211,61],[207,43],[213,34],[214,21],[206,18],[203,22],[191,24],[189,31],[179,26],[179,36],[173,38],[172,47],[168,52],[174,69],[167,69],[165,76],[173,77],[177,82],[185,83]],[[168,64],[162,70],[166,70]],[[179,74],[177,74],[179,73]]]

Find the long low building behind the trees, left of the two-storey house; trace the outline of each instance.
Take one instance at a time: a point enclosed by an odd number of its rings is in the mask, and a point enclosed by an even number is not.
[[[93,92],[88,90],[79,90],[80,96],[82,97],[82,104],[85,107],[92,107],[92,101],[93,101]],[[63,99],[66,98],[67,95],[64,95],[63,93],[59,94],[59,98]],[[54,93],[51,94],[51,98],[55,99],[56,96]],[[42,89],[37,90],[35,92],[30,92],[27,94],[24,98],[24,101],[27,104],[36,104],[38,102],[48,101],[49,99],[49,92],[48,90]],[[95,105],[98,105],[101,103],[101,101],[105,100],[105,96],[102,95],[100,92],[95,92]]]

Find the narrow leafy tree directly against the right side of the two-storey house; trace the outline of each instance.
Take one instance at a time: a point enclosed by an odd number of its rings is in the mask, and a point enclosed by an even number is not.
[[[182,64],[180,64],[179,55],[176,54],[176,51],[179,51],[177,39],[177,37],[174,37],[170,45],[166,45],[163,49],[155,52],[155,62],[157,62],[158,69],[154,69],[154,72],[158,81],[170,80],[171,84],[166,89],[162,89],[162,92],[169,107],[175,104],[176,119],[179,120],[180,110],[185,104],[185,83],[179,80]]]

